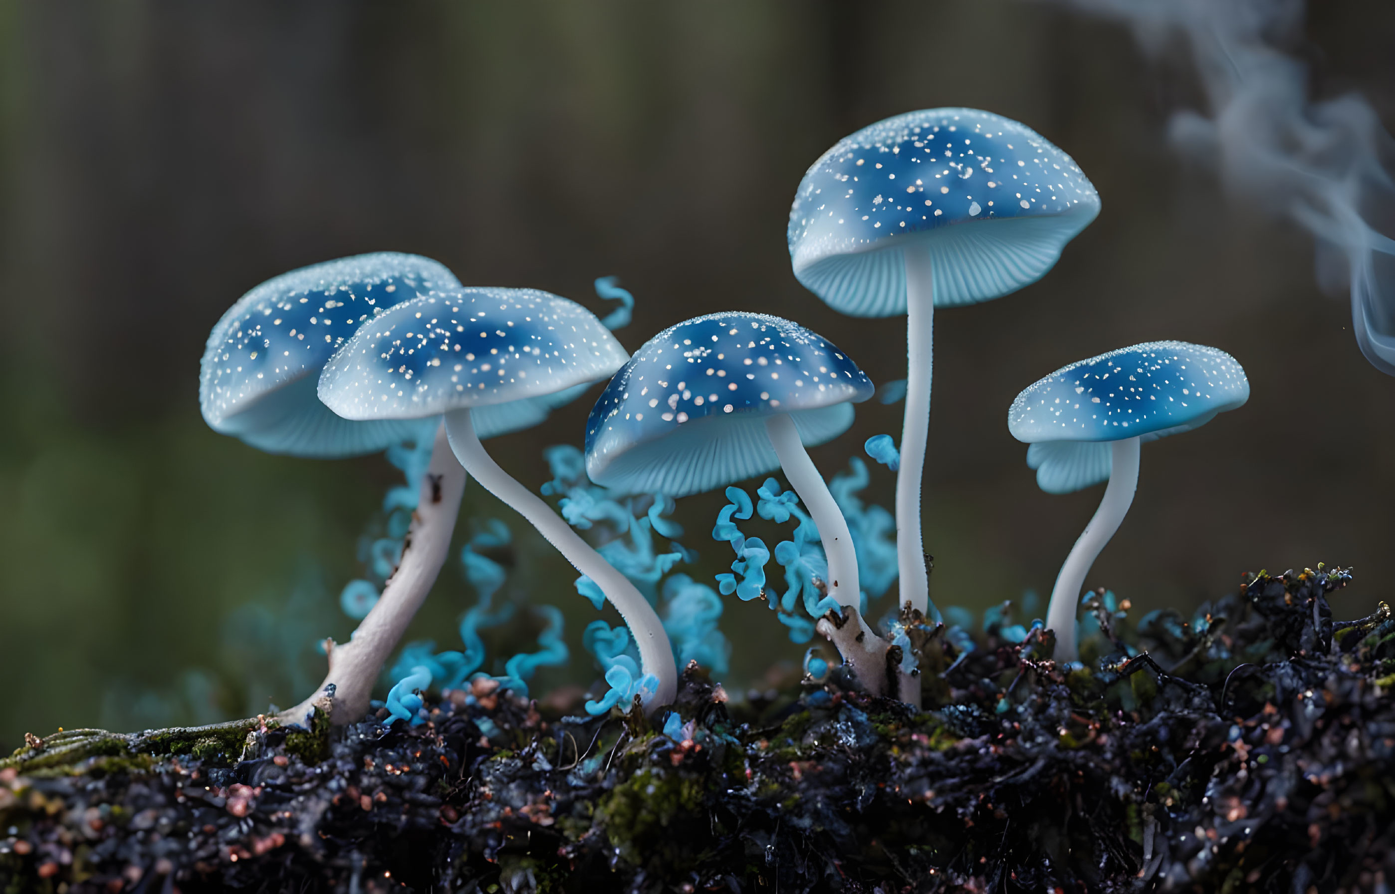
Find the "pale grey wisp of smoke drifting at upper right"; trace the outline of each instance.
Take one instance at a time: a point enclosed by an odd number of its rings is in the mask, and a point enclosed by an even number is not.
[[[1126,22],[1149,53],[1184,42],[1209,117],[1175,113],[1173,145],[1313,234],[1318,285],[1350,294],[1362,353],[1395,375],[1395,142],[1360,96],[1309,98],[1307,67],[1279,49],[1300,32],[1303,1],[1062,1]]]

